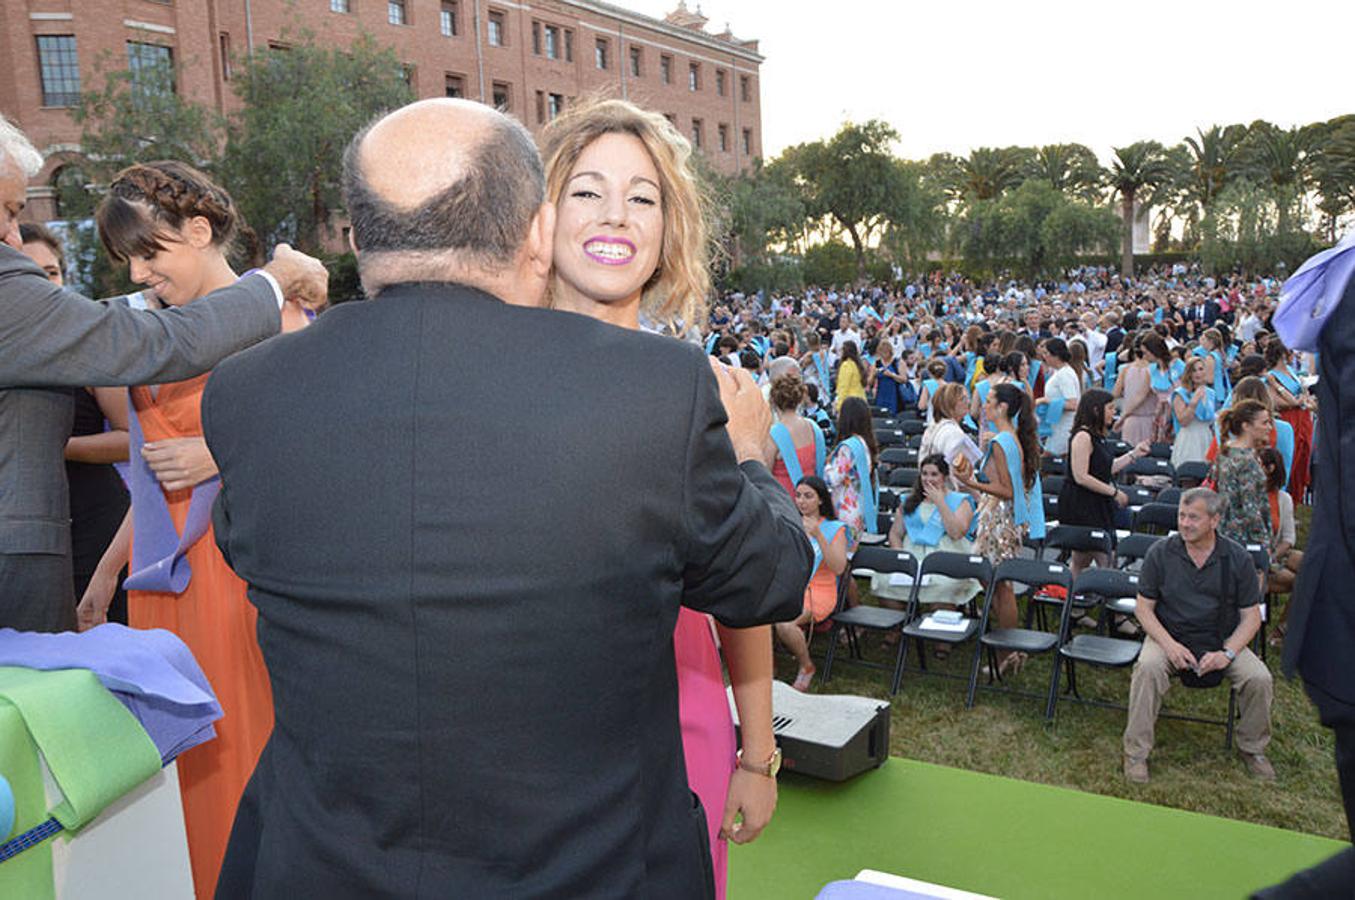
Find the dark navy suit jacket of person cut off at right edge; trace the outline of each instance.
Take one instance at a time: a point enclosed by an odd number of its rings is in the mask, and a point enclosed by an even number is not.
[[[1355,706],[1355,279],[1318,339],[1313,520],[1294,587],[1285,672]],[[1351,484],[1346,484],[1346,478]],[[1331,718],[1331,710],[1322,710]]]

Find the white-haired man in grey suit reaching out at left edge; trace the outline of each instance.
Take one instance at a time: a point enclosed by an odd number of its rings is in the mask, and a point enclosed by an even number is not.
[[[0,628],[75,628],[62,459],[70,388],[179,381],[280,327],[283,297],[322,305],[324,266],[280,247],[264,277],[210,302],[140,312],[62,290],[20,252],[42,155],[0,117]]]

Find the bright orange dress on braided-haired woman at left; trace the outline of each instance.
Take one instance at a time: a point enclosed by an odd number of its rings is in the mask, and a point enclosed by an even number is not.
[[[199,408],[207,375],[149,388],[133,388],[131,403],[146,442],[202,436]],[[191,491],[165,495],[175,527],[183,530]],[[131,628],[163,628],[178,634],[206,674],[224,716],[217,737],[179,756],[192,884],[211,897],[245,782],[272,732],[272,689],[255,632],[257,610],[245,599],[245,583],[226,565],[209,527],[188,549],[192,580],[183,594],[127,592]]]

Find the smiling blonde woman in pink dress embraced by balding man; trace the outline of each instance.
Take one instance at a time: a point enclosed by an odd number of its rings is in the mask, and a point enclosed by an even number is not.
[[[678,333],[701,321],[710,289],[709,239],[687,140],[657,112],[596,100],[554,119],[541,145],[546,195],[557,209],[549,302],[622,328],[638,328],[641,316]],[[715,630],[749,769],[736,756],[710,619],[680,610],[673,644],[687,778],[705,806],[715,889],[724,897],[726,838],[752,840],[776,805],[775,779],[752,770],[776,745],[771,628]]]

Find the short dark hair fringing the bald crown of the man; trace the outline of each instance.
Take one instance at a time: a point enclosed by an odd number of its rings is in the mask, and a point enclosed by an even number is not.
[[[455,251],[491,267],[512,262],[546,195],[541,155],[527,129],[508,117],[495,119],[465,173],[405,210],[378,197],[363,172],[362,142],[374,125],[358,131],[343,155],[344,202],[358,249]]]

